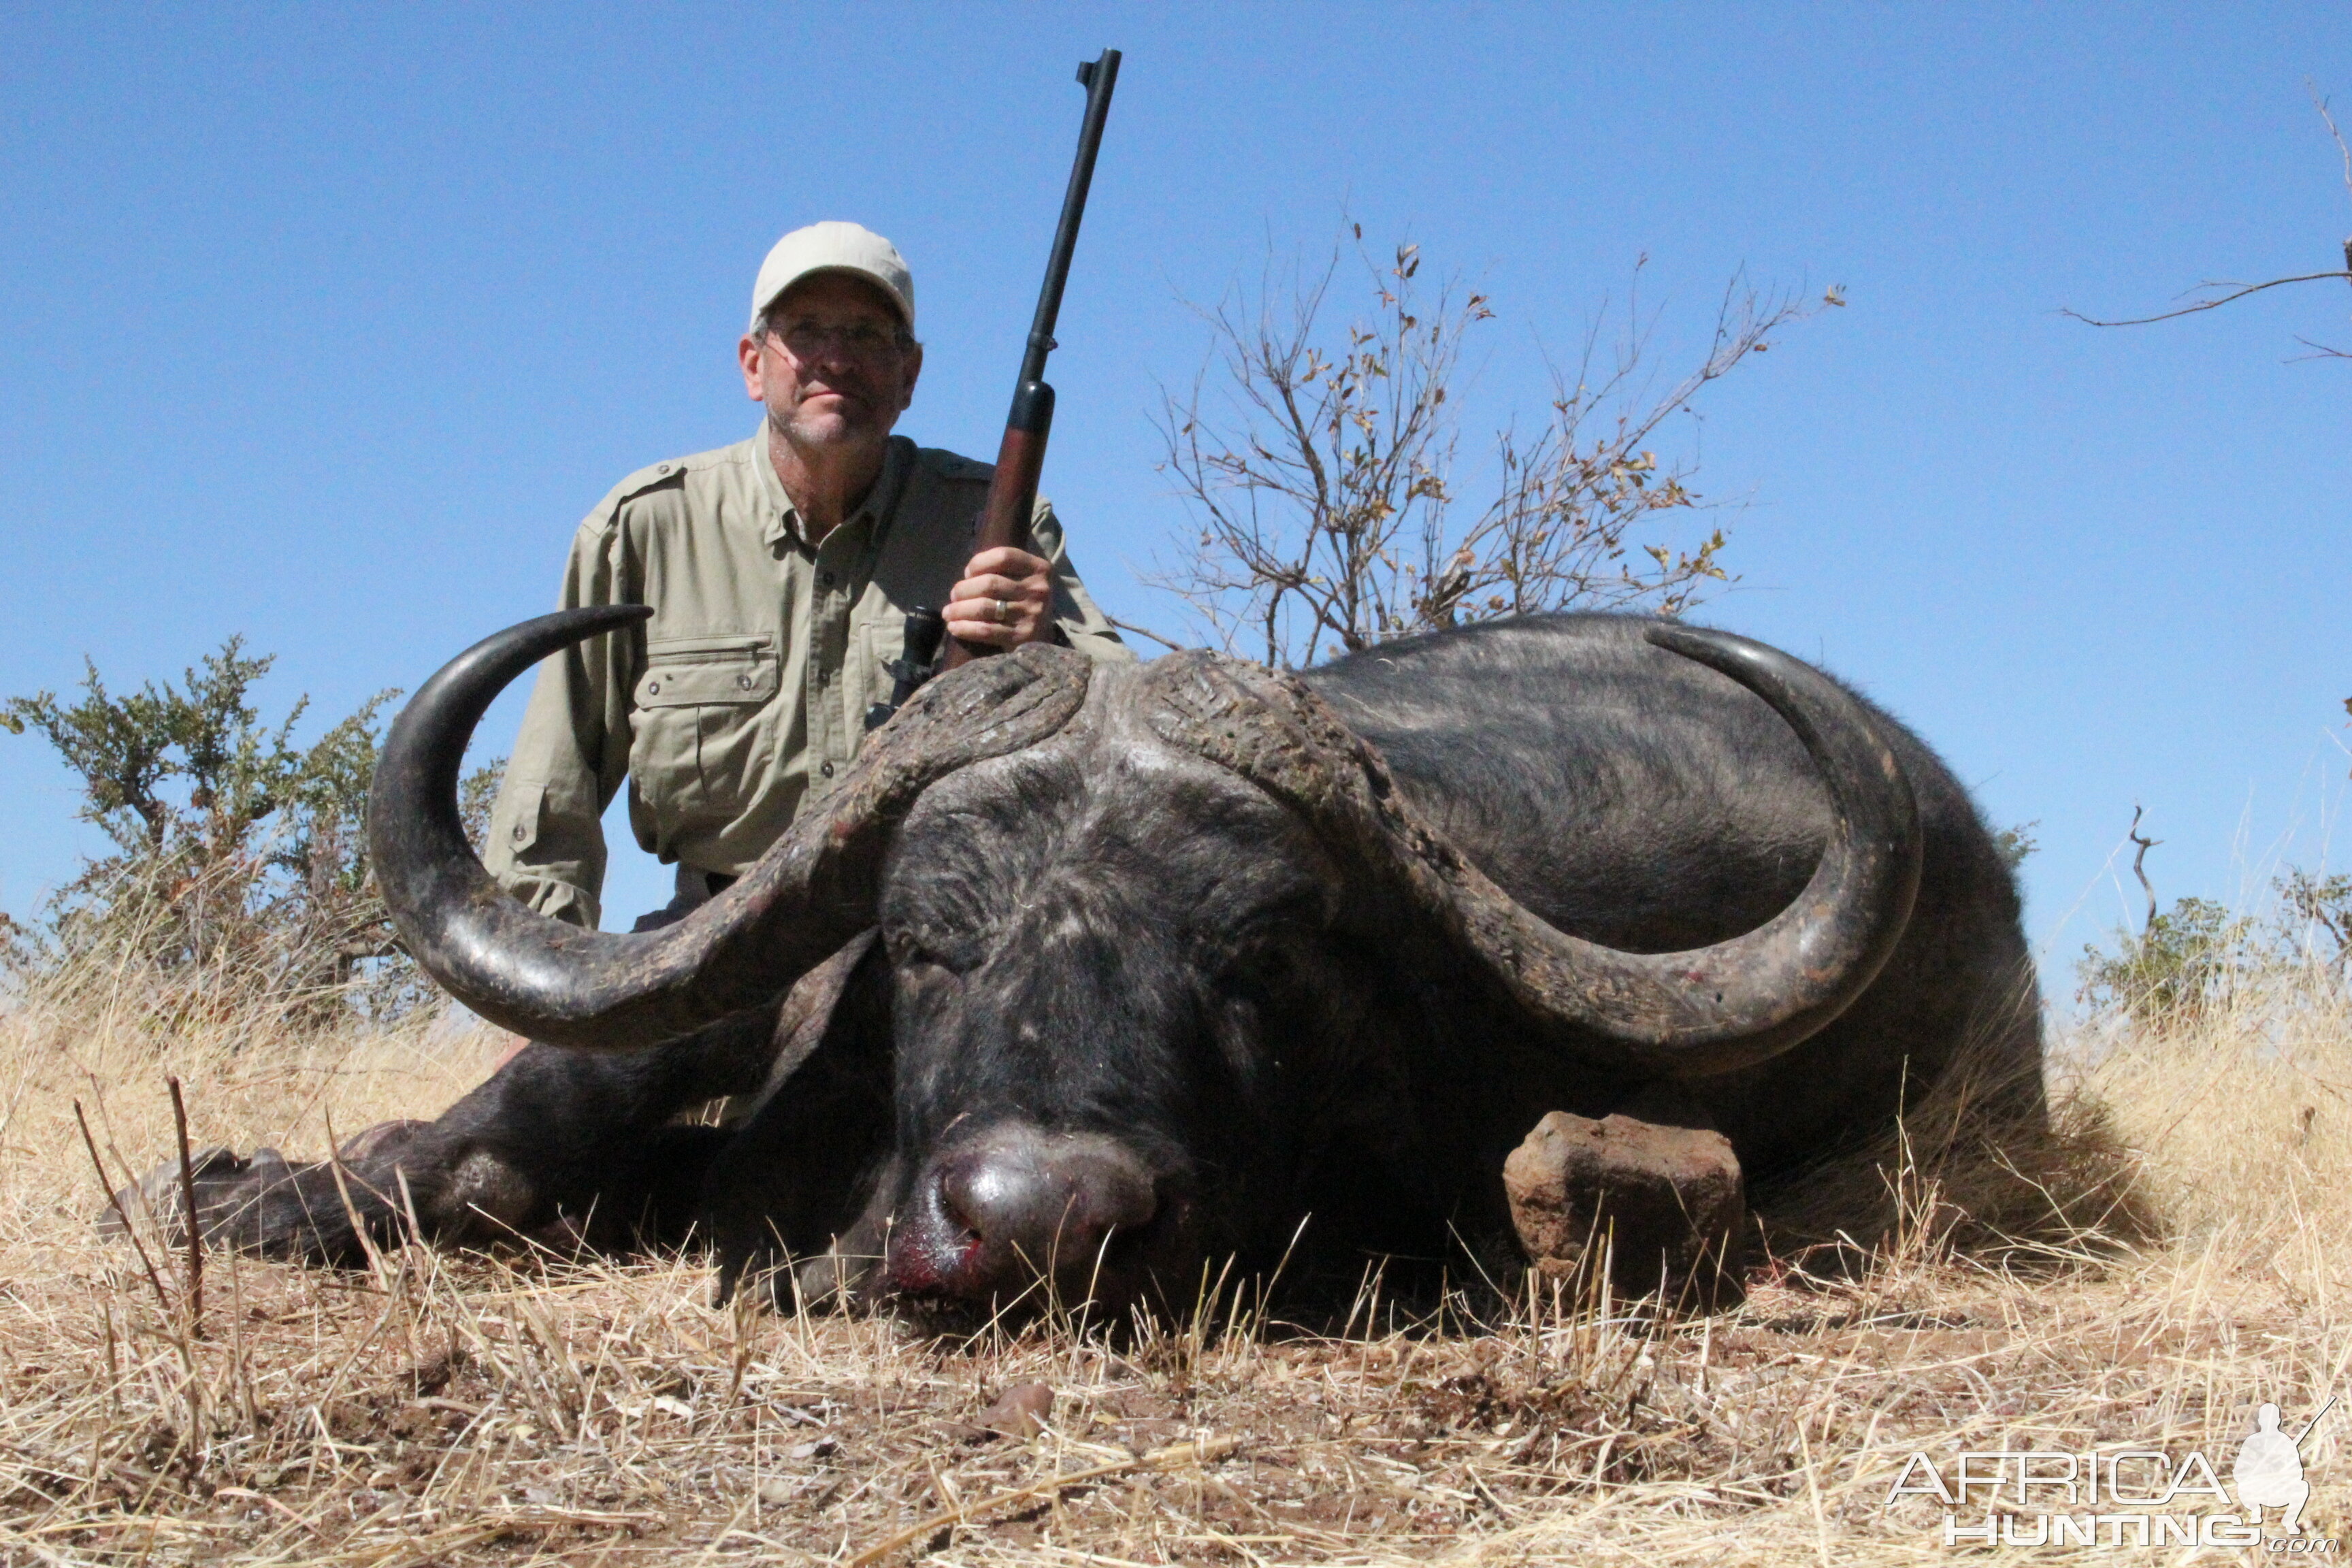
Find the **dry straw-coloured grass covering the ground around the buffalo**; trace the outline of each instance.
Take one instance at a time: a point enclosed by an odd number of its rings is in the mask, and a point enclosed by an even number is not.
[[[1406,1326],[1367,1295],[1338,1335],[1225,1312],[974,1342],[715,1312],[691,1260],[421,1251],[214,1258],[191,1326],[183,1258],[153,1255],[158,1300],[94,1239],[75,1098],[125,1168],[172,1154],[167,1074],[200,1145],[315,1152],[329,1119],[430,1114],[494,1041],[153,1032],[136,994],[0,1016],[9,1563],[1900,1563],[1947,1554],[1931,1505],[1882,1507],[1912,1450],[2230,1455],[2258,1399],[2300,1425],[2352,1359],[2352,1023],[2324,987],[2074,1041],[2046,1140],[1922,1105],[1886,1164],[1776,1199],[1715,1319],[1489,1295]],[[978,1432],[1021,1382],[1051,1385],[1047,1432]],[[2305,1450],[2324,1535],[2340,1429]]]

